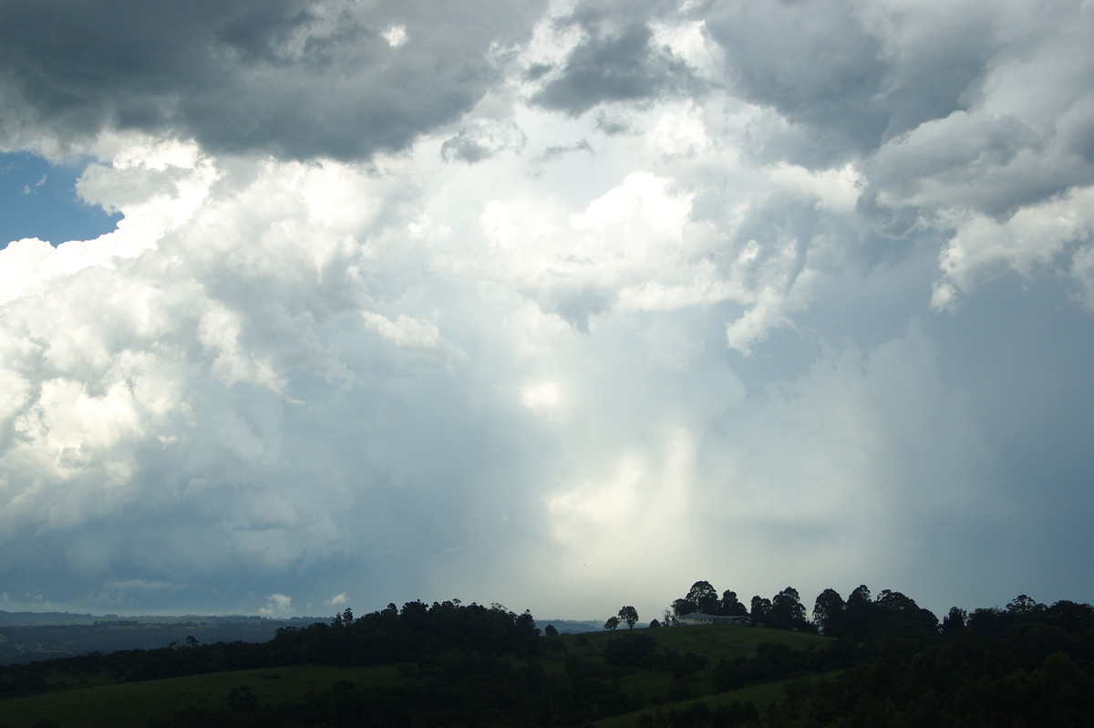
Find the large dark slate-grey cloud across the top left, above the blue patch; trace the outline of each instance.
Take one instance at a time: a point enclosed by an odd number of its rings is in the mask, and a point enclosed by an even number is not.
[[[3,135],[138,129],[220,151],[363,158],[470,108],[497,79],[491,44],[526,34],[537,9],[7,2]]]

